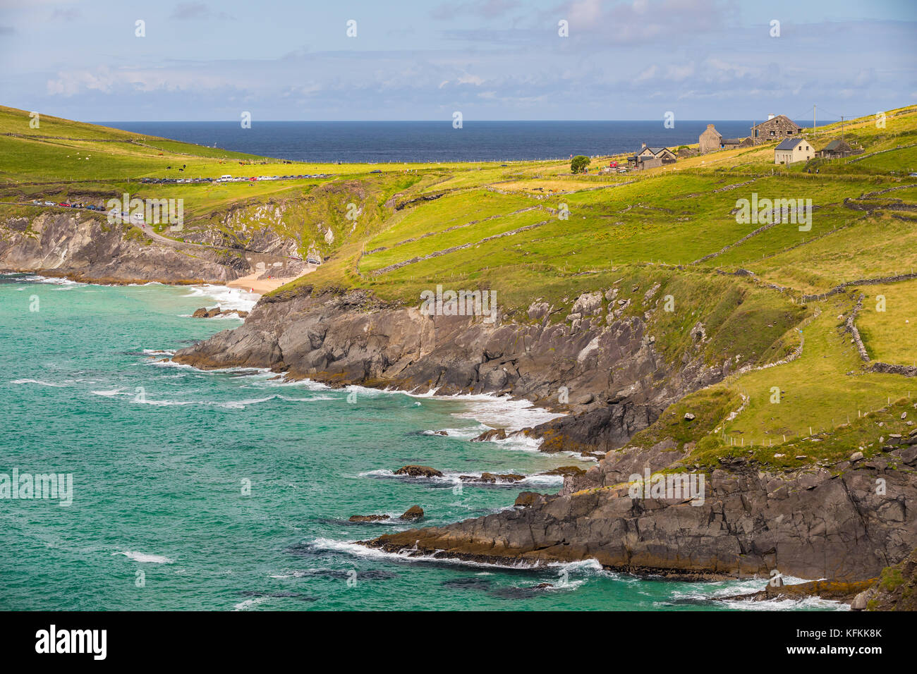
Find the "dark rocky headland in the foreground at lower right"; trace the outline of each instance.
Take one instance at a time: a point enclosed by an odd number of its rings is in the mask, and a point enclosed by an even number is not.
[[[668,457],[666,456],[668,455]],[[595,558],[609,569],[680,578],[780,574],[805,579],[868,580],[917,543],[909,503],[917,485],[917,447],[881,459],[790,474],[737,462],[714,470],[703,503],[632,498],[605,481],[674,464],[666,448],[613,452],[565,489],[528,507],[365,542],[390,552],[501,564]],[[877,493],[877,480],[886,492]],[[589,487],[589,485],[596,485]]]

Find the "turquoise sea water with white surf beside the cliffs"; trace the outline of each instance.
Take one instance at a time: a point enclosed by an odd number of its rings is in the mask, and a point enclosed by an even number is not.
[[[518,403],[159,362],[240,324],[188,317],[214,296],[226,306],[225,293],[0,276],[0,474],[72,473],[73,485],[70,506],[0,499],[0,609],[837,608],[705,599],[767,580],[641,580],[594,562],[499,569],[353,546],[421,524],[350,524],[352,514],[396,517],[417,503],[422,525],[455,522],[559,488],[531,478],[458,491],[458,474],[534,476],[579,459],[468,442],[482,424],[546,418]],[[450,435],[431,434],[440,429]],[[410,463],[452,479],[390,475]],[[541,582],[557,587],[531,589]]]

